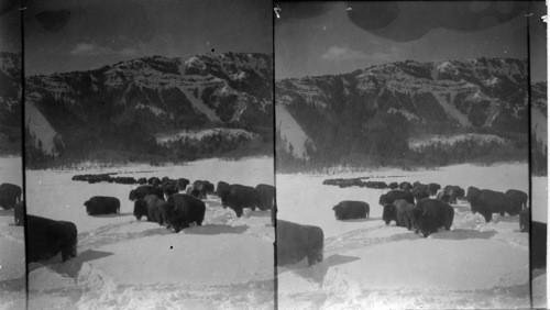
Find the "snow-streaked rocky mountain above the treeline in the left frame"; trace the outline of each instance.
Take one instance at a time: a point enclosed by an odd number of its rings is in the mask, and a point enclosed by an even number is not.
[[[215,126],[268,135],[272,73],[270,55],[224,53],[152,56],[32,76],[26,79],[25,125],[47,154],[91,144],[139,144],[163,132]]]

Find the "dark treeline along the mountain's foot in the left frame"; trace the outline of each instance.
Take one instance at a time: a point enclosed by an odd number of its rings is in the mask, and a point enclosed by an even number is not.
[[[59,154],[54,156],[46,154],[40,142],[34,143],[36,140],[29,134],[29,131],[25,131],[25,160],[30,169],[72,167],[82,162],[145,163],[160,166],[213,157],[239,159],[273,154],[273,137],[265,134],[248,139],[243,135],[231,136],[216,133],[200,140],[185,137],[166,144],[157,144],[151,134],[128,132],[127,134],[112,133],[107,142],[98,143],[98,145],[84,141],[80,144],[56,141],[56,150]],[[73,145],[79,145],[80,148]]]

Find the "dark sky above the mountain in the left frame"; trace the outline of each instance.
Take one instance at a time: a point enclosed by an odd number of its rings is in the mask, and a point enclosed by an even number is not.
[[[29,0],[28,75],[142,56],[273,53],[270,0]]]

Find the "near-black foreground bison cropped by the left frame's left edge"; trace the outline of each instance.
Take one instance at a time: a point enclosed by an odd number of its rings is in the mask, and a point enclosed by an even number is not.
[[[63,262],[76,257],[77,229],[73,222],[26,215],[26,263],[62,253]]]

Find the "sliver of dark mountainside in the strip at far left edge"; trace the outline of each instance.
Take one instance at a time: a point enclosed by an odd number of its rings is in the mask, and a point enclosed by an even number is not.
[[[21,154],[21,55],[0,52],[0,155]]]

